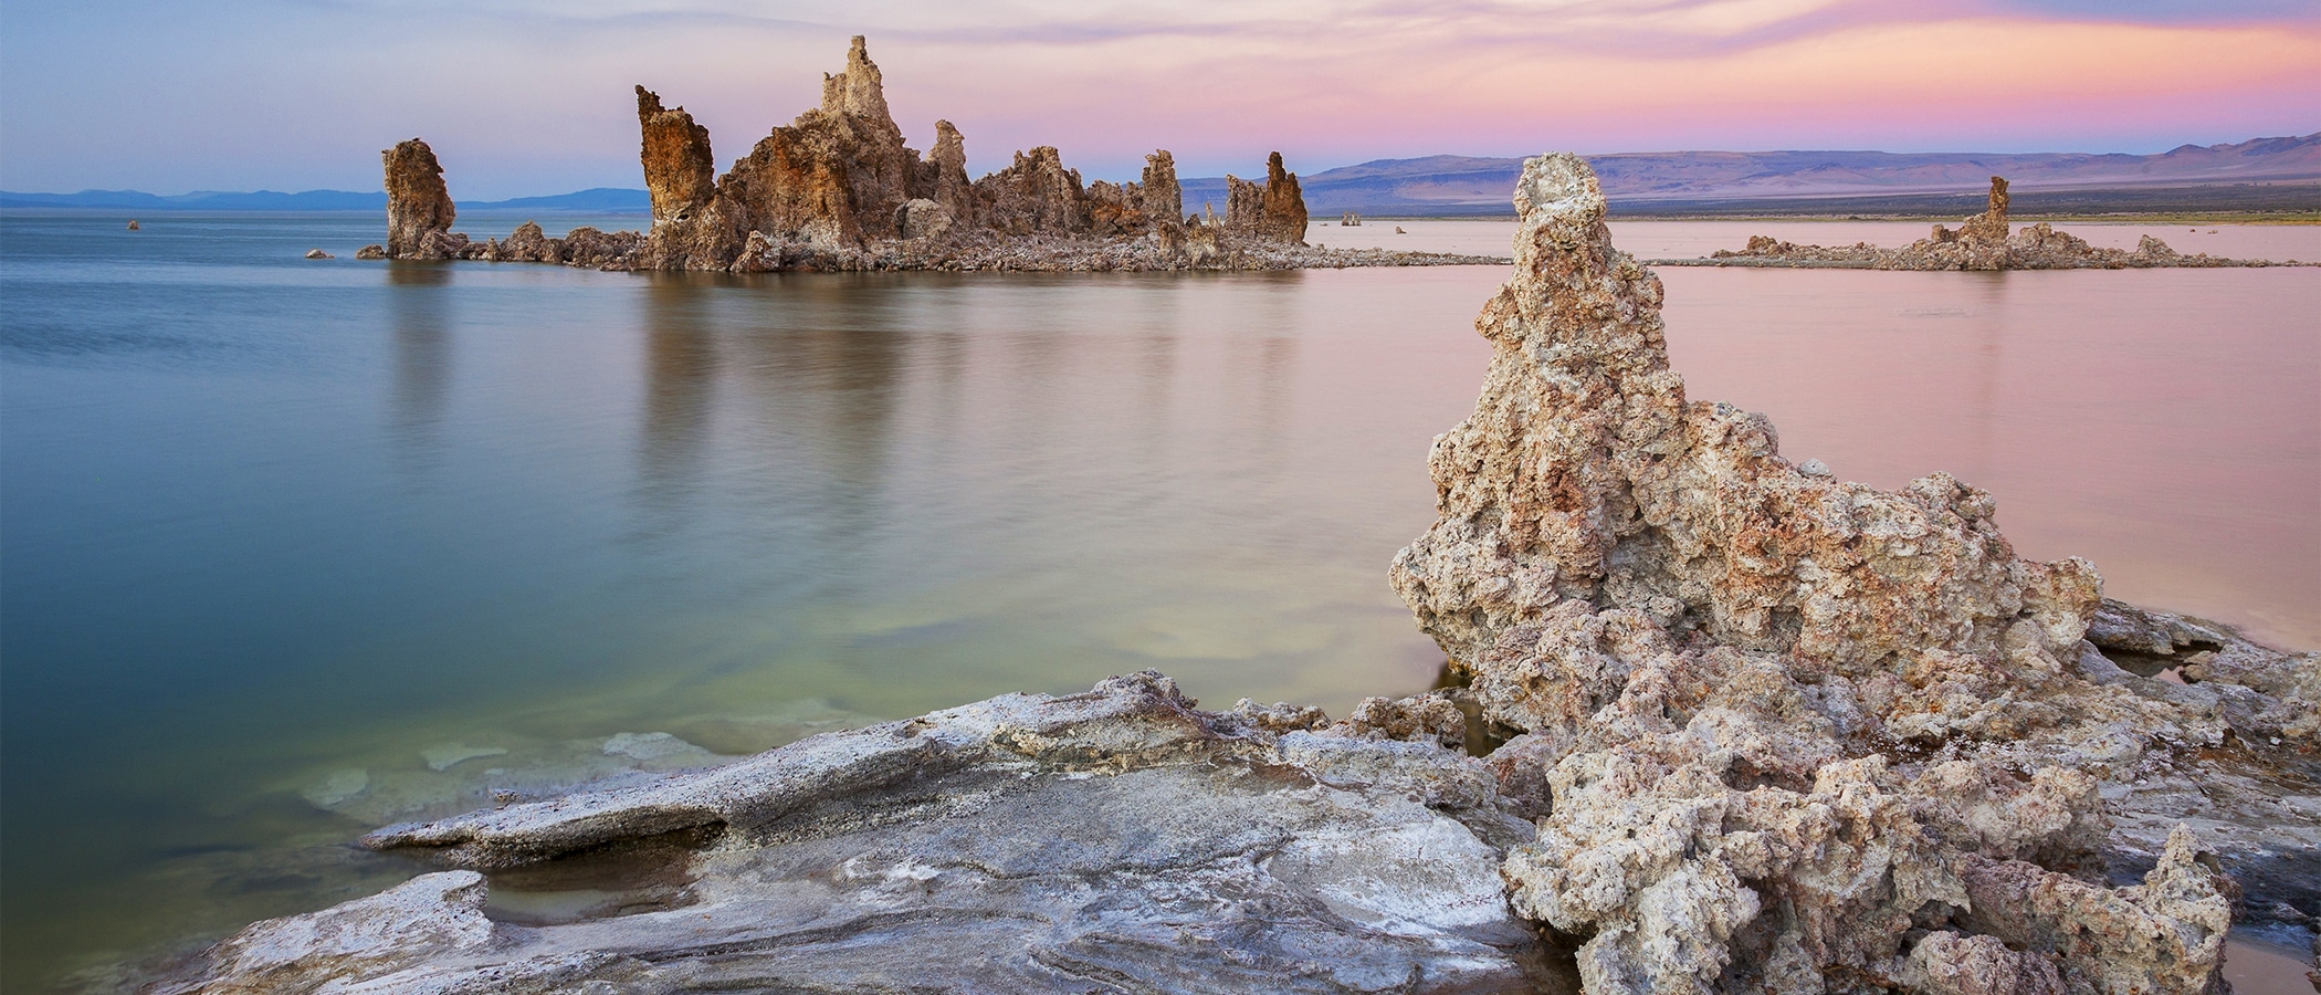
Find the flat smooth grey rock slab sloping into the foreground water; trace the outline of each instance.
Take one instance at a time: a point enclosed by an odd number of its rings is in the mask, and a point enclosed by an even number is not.
[[[1003,696],[378,830],[457,870],[251,925],[149,990],[1553,988],[1497,874],[1532,828],[1444,747],[1455,717],[1200,712],[1154,673]],[[487,912],[525,886],[613,895]]]

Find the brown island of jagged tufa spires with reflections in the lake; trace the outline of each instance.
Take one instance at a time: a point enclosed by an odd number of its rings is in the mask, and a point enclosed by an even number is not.
[[[381,153],[388,241],[367,260],[559,262],[594,269],[733,274],[847,269],[1309,269],[1499,264],[1499,257],[1309,246],[1297,174],[1281,153],[1265,181],[1225,176],[1225,213],[1186,213],[1177,160],[1144,158],[1140,181],[1084,183],[1054,146],[968,181],[966,139],[935,123],[935,148],[903,144],[884,79],[861,37],[822,77],[822,107],[757,141],[717,176],[708,128],[636,88],[650,232],[578,227],[562,239],[525,223],[506,239],[453,232],[443,167],[427,141]]]

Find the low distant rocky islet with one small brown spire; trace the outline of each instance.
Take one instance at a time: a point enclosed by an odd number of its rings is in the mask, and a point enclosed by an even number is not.
[[[2163,267],[2298,267],[2300,262],[2226,260],[2207,253],[2182,255],[2145,234],[2133,250],[2096,248],[2056,232],[2049,223],[2008,232],[2008,181],[1991,176],[1989,206],[1957,230],[1933,225],[1933,234],[1903,248],[1799,246],[1752,234],[1748,248],[1720,248],[1701,260],[1653,260],[1655,267],[1834,267],[1834,269],[2163,269]]]

